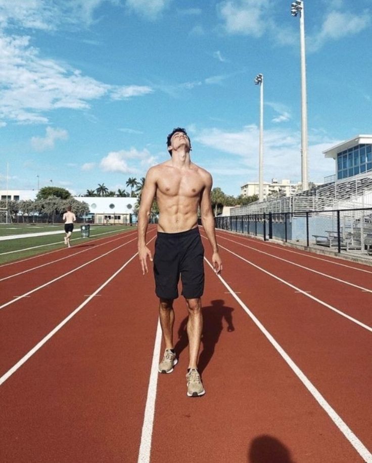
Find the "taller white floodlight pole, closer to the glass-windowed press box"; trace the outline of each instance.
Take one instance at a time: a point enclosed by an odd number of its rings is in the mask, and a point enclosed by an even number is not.
[[[301,48],[301,178],[302,191],[309,189],[307,161],[307,96],[306,96],[306,58],[305,58],[305,17],[304,3],[296,0],[291,5],[292,16],[300,15],[300,48]]]

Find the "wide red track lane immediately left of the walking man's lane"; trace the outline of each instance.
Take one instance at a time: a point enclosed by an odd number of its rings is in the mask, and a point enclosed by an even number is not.
[[[158,317],[152,286],[134,259],[3,384],[7,461],[135,461]]]

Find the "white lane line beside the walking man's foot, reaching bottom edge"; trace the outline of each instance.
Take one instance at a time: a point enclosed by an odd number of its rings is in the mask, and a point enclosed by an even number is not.
[[[145,407],[144,424],[142,426],[140,451],[138,452],[138,463],[149,463],[151,454],[151,441],[153,436],[153,426],[155,417],[155,400],[156,390],[158,386],[158,365],[161,347],[161,327],[160,320],[156,328],[155,345],[153,353],[153,361],[151,364],[151,373],[149,388],[147,391],[147,400]]]

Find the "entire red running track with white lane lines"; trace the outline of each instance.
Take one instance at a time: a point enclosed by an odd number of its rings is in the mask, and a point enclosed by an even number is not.
[[[219,278],[201,234],[200,398],[134,231],[0,267],[2,461],[372,462],[372,268],[217,231]]]

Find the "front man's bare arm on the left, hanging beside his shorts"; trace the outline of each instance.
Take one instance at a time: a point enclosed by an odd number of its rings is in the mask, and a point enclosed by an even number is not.
[[[154,168],[149,169],[144,188],[142,189],[141,194],[141,204],[140,210],[138,211],[138,221],[137,221],[137,235],[138,235],[138,257],[140,258],[142,274],[145,275],[145,272],[148,272],[147,268],[147,256],[149,256],[150,261],[153,260],[150,249],[146,246],[146,233],[147,227],[149,224],[149,217],[151,212],[151,206],[154,200],[156,193],[156,177]]]

